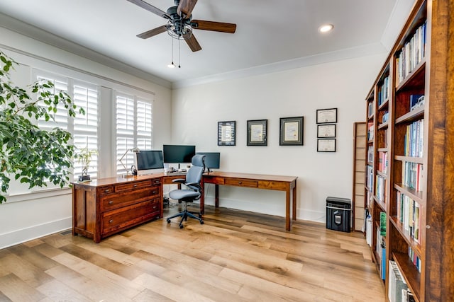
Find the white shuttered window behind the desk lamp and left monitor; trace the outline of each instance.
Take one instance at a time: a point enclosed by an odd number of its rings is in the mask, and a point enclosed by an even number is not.
[[[135,147],[141,150],[152,149],[153,104],[131,95],[116,96],[116,173],[121,175],[134,164]],[[120,158],[123,157],[120,163]]]

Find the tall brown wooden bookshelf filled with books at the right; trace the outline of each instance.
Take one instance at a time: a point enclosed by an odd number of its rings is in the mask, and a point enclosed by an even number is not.
[[[416,301],[454,296],[453,6],[415,1],[366,98],[372,259],[380,277],[394,261]]]

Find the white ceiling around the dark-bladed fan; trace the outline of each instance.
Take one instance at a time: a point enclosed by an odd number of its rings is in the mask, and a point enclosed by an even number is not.
[[[174,5],[173,0],[146,1],[162,11]],[[288,68],[320,54],[385,52],[383,36],[398,2],[199,0],[192,11],[194,19],[236,23],[236,33],[194,30],[202,50],[191,52],[182,42],[181,69],[167,67],[172,61],[172,38],[167,33],[147,40],[135,36],[164,25],[166,20],[126,0],[1,0],[0,12],[175,86],[263,66],[282,64]],[[323,23],[333,24],[334,30],[319,33]],[[45,35],[37,36],[36,31],[33,37],[45,40]],[[177,41],[174,47],[178,64]]]

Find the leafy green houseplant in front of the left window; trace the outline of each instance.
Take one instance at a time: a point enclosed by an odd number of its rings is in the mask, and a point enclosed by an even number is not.
[[[47,182],[64,187],[70,181],[74,146],[70,132],[40,129],[35,120],[50,120],[57,105],[68,115],[76,115],[77,106],[64,91],[53,92],[53,83],[37,81],[20,88],[11,83],[13,59],[0,51],[0,203],[6,201],[11,178],[28,183],[30,188]],[[31,97],[33,95],[33,98]],[[84,110],[79,108],[79,113]]]

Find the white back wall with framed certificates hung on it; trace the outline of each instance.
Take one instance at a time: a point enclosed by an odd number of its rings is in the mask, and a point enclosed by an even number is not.
[[[325,221],[326,197],[352,195],[353,122],[383,55],[174,90],[172,139],[220,151],[223,171],[294,175],[297,218]],[[316,151],[316,110],[338,108],[336,153]],[[279,146],[279,118],[304,116],[304,146]],[[246,146],[247,120],[268,120],[268,146]],[[236,146],[217,146],[217,122],[235,120]],[[207,188],[214,204],[214,187]],[[284,192],[220,187],[221,207],[285,215]]]

